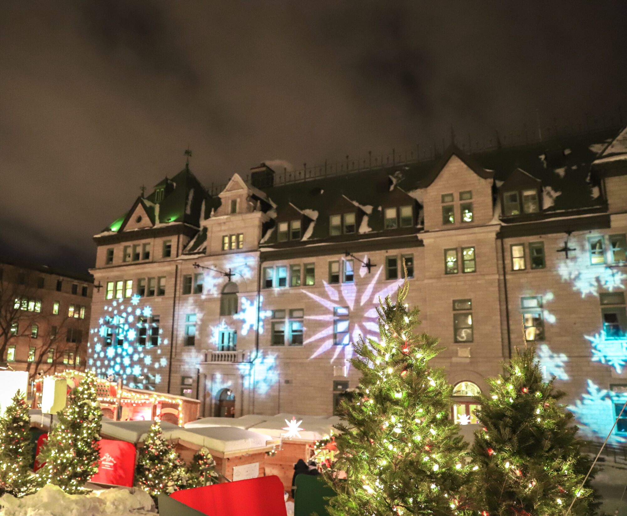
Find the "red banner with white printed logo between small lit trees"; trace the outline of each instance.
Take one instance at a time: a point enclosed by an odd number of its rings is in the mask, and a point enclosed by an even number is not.
[[[92,482],[133,487],[135,446],[125,441],[101,439],[98,473]]]

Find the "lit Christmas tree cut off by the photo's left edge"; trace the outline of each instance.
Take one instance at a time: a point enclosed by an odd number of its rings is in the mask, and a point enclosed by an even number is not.
[[[29,469],[33,443],[31,419],[24,394],[18,391],[0,418],[0,495],[23,497],[33,491],[34,477]]]

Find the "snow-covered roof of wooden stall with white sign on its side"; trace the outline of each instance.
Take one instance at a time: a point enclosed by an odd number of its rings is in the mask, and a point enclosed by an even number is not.
[[[267,441],[272,440],[269,435],[236,426],[205,426],[203,428],[186,428],[185,430],[179,428],[172,434],[172,437],[223,453],[265,448],[268,446]]]

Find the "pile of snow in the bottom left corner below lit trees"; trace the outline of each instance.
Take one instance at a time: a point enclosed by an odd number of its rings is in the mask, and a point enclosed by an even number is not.
[[[46,485],[34,495],[0,498],[0,516],[139,516],[154,515],[148,493],[122,488],[68,495],[56,485]]]

